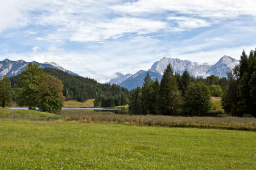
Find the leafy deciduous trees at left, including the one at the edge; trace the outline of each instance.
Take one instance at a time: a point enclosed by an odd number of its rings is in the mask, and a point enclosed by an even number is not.
[[[15,101],[20,107],[36,107],[44,112],[56,112],[63,107],[63,84],[55,76],[45,74],[37,64],[29,63],[22,70],[15,84]],[[0,81],[1,105],[4,108],[13,98],[14,90],[11,81],[3,76]]]

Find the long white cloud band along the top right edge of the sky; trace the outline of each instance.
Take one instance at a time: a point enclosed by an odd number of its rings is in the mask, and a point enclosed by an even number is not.
[[[256,3],[254,0],[139,0],[136,2],[127,2],[123,5],[110,6],[110,8],[114,11],[131,15],[172,11],[178,14],[211,18],[234,18],[238,15],[256,16]]]

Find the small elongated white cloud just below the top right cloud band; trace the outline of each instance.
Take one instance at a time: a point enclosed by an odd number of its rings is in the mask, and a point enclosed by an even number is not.
[[[180,28],[191,29],[191,28],[200,28],[200,27],[209,27],[211,23],[203,20],[203,19],[196,19],[196,18],[187,18],[187,17],[168,17],[169,20],[176,20],[179,24]]]

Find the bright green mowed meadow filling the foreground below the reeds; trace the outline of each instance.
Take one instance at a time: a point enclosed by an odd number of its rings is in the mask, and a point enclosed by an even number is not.
[[[255,138],[250,131],[3,119],[0,169],[254,169]]]

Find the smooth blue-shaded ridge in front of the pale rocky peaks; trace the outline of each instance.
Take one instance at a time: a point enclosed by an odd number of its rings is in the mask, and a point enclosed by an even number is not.
[[[143,71],[140,70],[134,75],[130,76],[126,80],[124,80],[122,83],[118,84],[118,86],[125,87],[128,90],[133,90],[134,88],[137,88],[138,86],[142,86],[144,82],[144,78],[147,75],[147,73],[151,76],[151,79],[155,81],[156,77],[158,78],[158,81],[162,79],[162,74],[160,74],[158,71]]]

